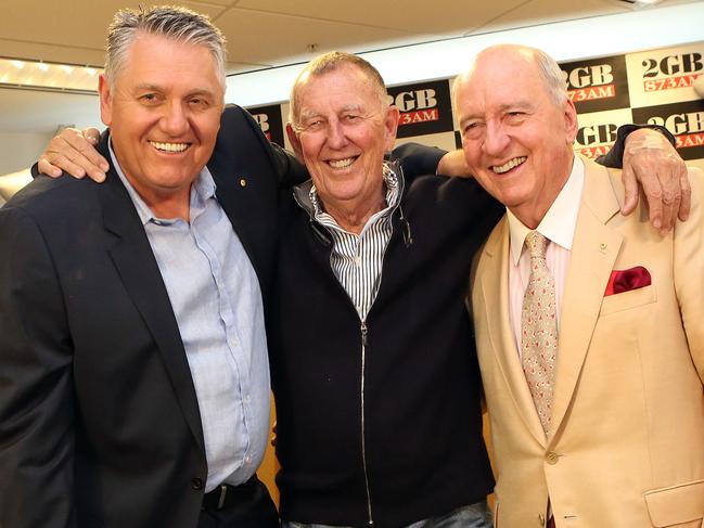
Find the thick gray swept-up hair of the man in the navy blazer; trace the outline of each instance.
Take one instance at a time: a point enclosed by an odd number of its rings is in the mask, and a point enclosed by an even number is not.
[[[172,5],[124,9],[115,13],[107,28],[105,57],[105,78],[111,88],[114,88],[115,79],[125,66],[127,52],[139,33],[207,47],[225,89],[225,36],[206,15]]]

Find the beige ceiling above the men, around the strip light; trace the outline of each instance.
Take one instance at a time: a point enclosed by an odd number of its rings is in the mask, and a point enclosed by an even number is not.
[[[664,0],[661,5],[693,3]],[[101,66],[105,28],[125,0],[2,0],[0,56]],[[143,2],[142,2],[143,3]],[[333,49],[364,52],[558,21],[630,11],[622,0],[208,0],[180,2],[208,14],[228,39],[228,72],[305,62]],[[91,95],[0,88],[0,131],[48,132],[95,123]],[[92,103],[91,103],[92,104]],[[91,106],[92,107],[92,106]],[[97,107],[97,102],[95,102]],[[28,108],[37,110],[28,115]]]

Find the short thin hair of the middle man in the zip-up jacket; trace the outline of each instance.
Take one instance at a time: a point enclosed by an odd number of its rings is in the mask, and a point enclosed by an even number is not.
[[[291,88],[289,121],[292,124],[294,130],[298,131],[297,117],[299,86],[309,78],[321,77],[325,74],[335,72],[345,65],[359,68],[370,81],[374,90],[376,90],[382,106],[387,104],[386,85],[384,83],[384,79],[382,78],[382,74],[379,73],[379,69],[360,56],[345,53],[344,51],[331,51],[310,61],[303,72],[298,74],[293,87]]]

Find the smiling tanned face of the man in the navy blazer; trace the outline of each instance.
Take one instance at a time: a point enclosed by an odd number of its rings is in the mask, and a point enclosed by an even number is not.
[[[185,201],[213,153],[223,87],[205,46],[139,34],[113,88],[100,79],[101,117],[125,176],[157,213]]]

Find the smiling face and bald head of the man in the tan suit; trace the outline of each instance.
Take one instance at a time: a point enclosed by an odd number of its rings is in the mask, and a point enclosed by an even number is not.
[[[572,170],[574,104],[551,95],[529,50],[485,51],[459,81],[464,157],[478,182],[535,229]]]

